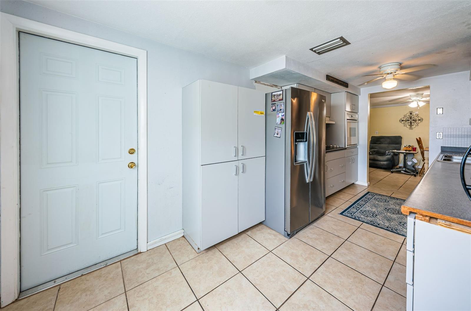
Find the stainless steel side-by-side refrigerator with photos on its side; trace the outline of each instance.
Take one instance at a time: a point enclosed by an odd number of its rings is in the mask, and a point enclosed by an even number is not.
[[[273,99],[267,93],[263,223],[292,237],[325,212],[325,96],[291,87]]]

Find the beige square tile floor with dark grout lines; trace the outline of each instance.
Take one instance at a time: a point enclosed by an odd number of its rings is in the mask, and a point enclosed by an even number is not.
[[[367,191],[405,198],[420,177],[370,169],[287,239],[257,225],[197,254],[184,237],[2,310],[405,310],[405,238],[339,213]]]

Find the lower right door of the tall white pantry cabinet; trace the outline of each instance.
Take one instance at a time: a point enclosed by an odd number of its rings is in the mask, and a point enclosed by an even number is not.
[[[265,220],[265,157],[238,162],[238,232],[241,232]]]

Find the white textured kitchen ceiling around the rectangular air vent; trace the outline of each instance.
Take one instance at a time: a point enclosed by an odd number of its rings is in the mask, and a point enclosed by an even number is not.
[[[286,55],[354,85],[389,62],[436,65],[422,77],[471,67],[471,1],[30,2],[248,68]],[[339,36],[351,44],[309,50]]]

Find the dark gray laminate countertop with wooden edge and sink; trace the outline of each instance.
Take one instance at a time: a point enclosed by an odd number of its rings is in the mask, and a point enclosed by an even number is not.
[[[466,149],[442,147],[440,154],[463,155]],[[437,159],[402,205],[402,213],[419,213],[471,227],[471,201],[461,185],[460,164]],[[466,165],[464,174],[471,183],[471,164]]]

